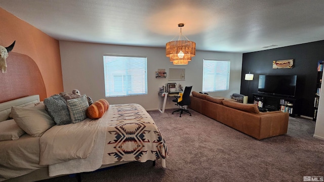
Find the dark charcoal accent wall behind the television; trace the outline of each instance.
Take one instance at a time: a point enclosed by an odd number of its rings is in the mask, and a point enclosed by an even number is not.
[[[272,69],[273,61],[286,59],[294,59],[294,68]],[[253,103],[252,93],[258,92],[259,75],[297,75],[295,98],[298,100],[298,115],[313,117],[319,60],[324,60],[324,40],[245,53],[242,58],[240,92],[248,95],[248,81],[244,78],[249,72],[254,74],[249,84],[249,103]]]

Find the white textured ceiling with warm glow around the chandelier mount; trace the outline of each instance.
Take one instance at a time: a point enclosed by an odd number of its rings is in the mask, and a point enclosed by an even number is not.
[[[0,0],[58,40],[248,53],[324,39],[323,0]],[[277,45],[262,48],[267,45]]]

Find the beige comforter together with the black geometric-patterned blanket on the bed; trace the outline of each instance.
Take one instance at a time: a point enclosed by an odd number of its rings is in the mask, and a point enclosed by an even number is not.
[[[64,142],[63,142],[64,141]],[[110,105],[102,118],[54,126],[39,142],[50,176],[94,171],[102,164],[161,160],[168,150],[151,116],[138,104]]]

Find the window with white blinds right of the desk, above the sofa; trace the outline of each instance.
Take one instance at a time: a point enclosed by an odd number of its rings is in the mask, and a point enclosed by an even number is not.
[[[205,60],[203,68],[203,92],[228,90],[229,61]]]

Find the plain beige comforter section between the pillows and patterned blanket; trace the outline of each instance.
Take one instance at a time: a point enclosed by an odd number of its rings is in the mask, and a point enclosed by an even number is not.
[[[102,164],[107,115],[99,119],[53,126],[39,140],[39,164],[49,175],[94,171]]]

